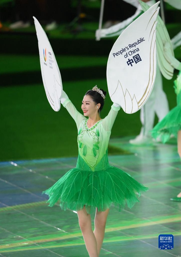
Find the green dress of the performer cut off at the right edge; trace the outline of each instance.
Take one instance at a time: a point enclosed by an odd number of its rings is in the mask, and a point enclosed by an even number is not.
[[[177,105],[174,107],[152,130],[153,138],[161,138],[165,143],[171,134],[177,137],[178,130],[181,130],[181,72],[174,81]]]

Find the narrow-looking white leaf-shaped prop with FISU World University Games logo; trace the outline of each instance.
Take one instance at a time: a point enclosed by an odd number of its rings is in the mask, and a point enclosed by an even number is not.
[[[48,102],[54,111],[57,112],[60,109],[60,98],[63,90],[60,71],[45,31],[38,20],[35,17],[33,18],[36,27],[36,35],[38,37],[43,85]]]

